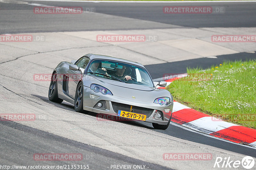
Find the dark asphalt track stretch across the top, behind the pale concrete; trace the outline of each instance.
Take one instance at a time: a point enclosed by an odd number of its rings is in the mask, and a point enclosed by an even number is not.
[[[2,0],[5,1],[5,0]],[[7,1],[8,2],[8,1]],[[26,1],[23,1],[26,2]],[[1,34],[24,32],[60,32],[95,30],[134,30],[182,27],[255,27],[255,3],[81,3],[81,2],[42,2],[27,1],[32,4],[52,6],[82,6],[94,8],[97,13],[136,18],[158,22],[156,25],[145,22],[105,20],[101,16],[84,15],[34,15],[32,5],[1,3]],[[164,14],[163,6],[217,6],[224,7],[220,14]],[[49,19],[50,18],[50,19]],[[162,25],[159,23],[163,23]],[[167,25],[168,24],[168,25]]]

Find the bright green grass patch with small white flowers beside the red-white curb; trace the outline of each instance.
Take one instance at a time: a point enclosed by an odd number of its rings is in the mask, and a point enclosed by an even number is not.
[[[188,77],[168,89],[174,100],[234,124],[256,129],[256,62],[224,62],[210,69],[187,68]]]

